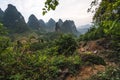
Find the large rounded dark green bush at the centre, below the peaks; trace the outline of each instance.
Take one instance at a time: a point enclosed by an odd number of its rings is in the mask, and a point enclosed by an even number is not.
[[[78,46],[72,35],[62,35],[55,41],[55,45],[58,46],[58,53],[64,55],[72,55]]]

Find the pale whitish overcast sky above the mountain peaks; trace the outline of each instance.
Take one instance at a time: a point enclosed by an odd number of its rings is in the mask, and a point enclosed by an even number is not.
[[[47,22],[50,18],[58,21],[59,18],[64,20],[74,20],[77,26],[88,24],[92,21],[93,14],[87,13],[90,3],[93,0],[59,0],[60,5],[55,11],[42,15],[42,8],[45,0],[0,0],[0,8],[5,10],[8,4],[16,6],[18,11],[25,17],[26,22],[31,14],[38,19]]]

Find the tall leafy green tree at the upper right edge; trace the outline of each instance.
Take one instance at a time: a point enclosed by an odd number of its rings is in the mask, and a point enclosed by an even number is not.
[[[108,35],[120,35],[120,0],[102,0],[93,21]]]

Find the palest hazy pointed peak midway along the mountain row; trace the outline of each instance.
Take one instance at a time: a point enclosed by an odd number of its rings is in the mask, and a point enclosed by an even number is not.
[[[55,26],[56,26],[56,22],[50,18],[50,20],[46,23],[46,31],[47,32],[54,32],[55,31]]]

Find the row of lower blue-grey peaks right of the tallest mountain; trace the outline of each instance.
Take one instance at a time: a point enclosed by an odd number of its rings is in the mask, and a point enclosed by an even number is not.
[[[30,16],[27,24],[36,30],[40,30],[39,28],[42,27],[42,29],[46,32],[78,34],[77,28],[72,20],[66,20],[63,22],[62,19],[59,19],[58,22],[55,22],[54,19],[50,18],[48,22],[45,23],[42,19],[38,20],[35,16],[33,18]]]

